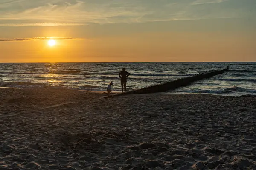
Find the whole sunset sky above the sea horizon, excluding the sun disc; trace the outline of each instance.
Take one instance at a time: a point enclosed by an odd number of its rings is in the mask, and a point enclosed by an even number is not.
[[[0,0],[0,62],[256,61],[255,16],[256,0]]]

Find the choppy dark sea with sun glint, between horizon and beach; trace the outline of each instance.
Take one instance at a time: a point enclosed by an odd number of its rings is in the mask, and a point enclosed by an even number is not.
[[[1,63],[0,87],[73,88],[120,91],[118,77],[123,67],[131,73],[127,90],[144,88],[205,71],[227,68],[230,71],[194,82],[169,93],[206,93],[241,96],[256,94],[256,62],[165,62],[165,63]]]

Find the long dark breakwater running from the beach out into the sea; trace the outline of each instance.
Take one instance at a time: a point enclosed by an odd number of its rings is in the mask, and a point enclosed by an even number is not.
[[[159,85],[141,88],[141,89],[137,89],[134,91],[128,91],[128,92],[125,92],[122,94],[116,94],[114,96],[121,96],[121,95],[126,95],[126,94],[160,93],[160,92],[165,92],[168,90],[174,90],[176,88],[189,85],[192,82],[202,80],[202,79],[207,79],[207,78],[213,77],[218,74],[222,74],[225,71],[228,71],[228,69],[229,69],[229,67],[227,67],[226,69],[223,69],[223,70],[212,71],[212,72],[208,72],[208,73],[204,73],[204,74],[198,74],[195,76],[185,77],[183,79],[177,79],[177,80],[173,80],[173,81],[166,82],[166,83],[159,84]]]

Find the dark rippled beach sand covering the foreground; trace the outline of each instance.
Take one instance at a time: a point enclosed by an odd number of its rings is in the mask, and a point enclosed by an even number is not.
[[[0,170],[255,170],[256,97],[0,88]]]

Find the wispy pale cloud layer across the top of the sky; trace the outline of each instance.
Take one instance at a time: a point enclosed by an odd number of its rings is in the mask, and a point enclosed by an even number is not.
[[[0,0],[0,26],[241,18],[255,9],[256,0]]]

